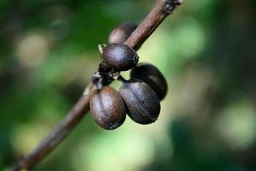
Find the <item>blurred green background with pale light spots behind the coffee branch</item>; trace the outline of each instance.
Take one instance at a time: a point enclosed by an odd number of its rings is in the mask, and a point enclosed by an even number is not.
[[[111,29],[153,3],[0,1],[0,170],[62,120]],[[256,1],[185,0],[138,52],[169,82],[158,121],[104,131],[86,115],[34,170],[256,170],[255,31]]]

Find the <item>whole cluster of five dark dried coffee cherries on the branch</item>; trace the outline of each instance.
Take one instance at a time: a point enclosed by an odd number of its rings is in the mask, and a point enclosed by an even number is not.
[[[101,62],[92,83],[97,87],[90,97],[90,109],[100,127],[112,130],[122,125],[126,114],[140,124],[150,124],[158,119],[160,100],[167,93],[164,75],[149,63],[138,63],[139,56],[125,40],[137,25],[124,22],[110,32],[107,45],[99,45]],[[130,72],[130,80],[120,75]],[[118,91],[108,86],[112,80],[122,82]]]

